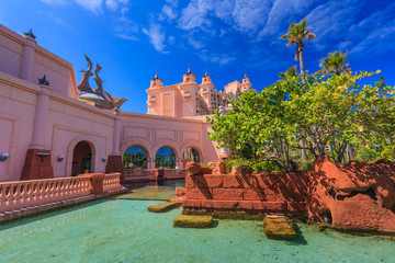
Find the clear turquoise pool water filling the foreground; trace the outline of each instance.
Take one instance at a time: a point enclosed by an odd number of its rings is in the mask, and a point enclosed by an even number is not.
[[[174,186],[133,193],[0,225],[0,262],[395,262],[388,237],[354,237],[298,224],[295,241],[264,237],[261,221],[219,220],[215,228],[180,229],[181,208],[147,206]],[[145,199],[146,198],[146,199]]]

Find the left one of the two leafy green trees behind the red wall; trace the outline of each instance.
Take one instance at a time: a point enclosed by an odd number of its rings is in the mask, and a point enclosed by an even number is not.
[[[217,113],[208,118],[213,129],[210,139],[217,141],[218,148],[228,148],[236,159],[250,161],[250,165],[270,160],[284,172],[294,171],[287,94],[295,81],[276,82],[261,93],[241,93],[239,100],[232,102],[227,115]]]

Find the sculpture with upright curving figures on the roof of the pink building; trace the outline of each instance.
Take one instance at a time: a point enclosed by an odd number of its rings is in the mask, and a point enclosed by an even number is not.
[[[105,110],[115,108],[115,111],[119,112],[121,105],[127,100],[125,98],[113,98],[110,93],[103,90],[104,81],[99,77],[102,67],[99,64],[97,64],[97,67],[94,68],[95,77],[93,78],[97,83],[97,88],[92,90],[89,84],[89,78],[93,76],[91,72],[93,69],[93,64],[87,55],[84,55],[84,57],[88,62],[88,69],[81,70],[83,73],[82,79],[77,85],[78,90],[80,91],[79,100],[94,102],[94,106],[97,107]]]

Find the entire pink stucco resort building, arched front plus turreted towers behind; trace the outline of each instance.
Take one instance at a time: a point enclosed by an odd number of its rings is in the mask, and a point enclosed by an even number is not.
[[[172,150],[176,167],[182,167],[183,152],[191,148],[201,162],[219,157],[207,138],[210,124],[196,116],[196,108],[208,114],[221,104],[211,99],[216,91],[208,76],[200,85],[192,73],[170,87],[155,78],[147,90],[149,114],[117,114],[79,101],[72,65],[41,47],[32,35],[0,25],[0,58],[2,182],[117,172],[132,146],[146,152],[147,169],[155,168],[162,147]],[[37,84],[44,75],[49,85]],[[249,89],[249,81],[244,82],[228,89]],[[184,103],[174,104],[177,100]]]

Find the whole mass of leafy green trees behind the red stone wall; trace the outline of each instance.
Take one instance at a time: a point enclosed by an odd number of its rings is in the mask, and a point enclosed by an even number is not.
[[[297,169],[296,149],[345,161],[348,146],[385,145],[394,137],[394,89],[383,80],[374,85],[358,84],[374,75],[298,76],[278,81],[261,93],[244,92],[232,102],[227,115],[217,113],[208,118],[210,139],[217,141],[218,148],[228,148],[239,164],[271,161],[284,172]]]

